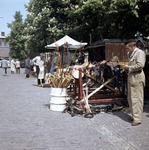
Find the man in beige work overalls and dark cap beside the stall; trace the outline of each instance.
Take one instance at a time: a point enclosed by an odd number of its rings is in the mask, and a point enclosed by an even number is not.
[[[145,75],[143,68],[145,65],[145,53],[136,47],[135,40],[128,40],[126,51],[130,53],[128,65],[122,65],[122,69],[128,70],[128,103],[132,117],[132,126],[137,126],[142,122],[143,104],[144,104],[144,86]]]

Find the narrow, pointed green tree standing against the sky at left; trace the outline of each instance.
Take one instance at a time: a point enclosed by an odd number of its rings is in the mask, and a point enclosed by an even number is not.
[[[12,58],[23,60],[26,58],[25,40],[23,36],[24,24],[22,22],[22,15],[20,11],[16,11],[14,15],[15,21],[8,23],[8,28],[11,28],[10,35],[6,38],[9,43],[10,53]]]

